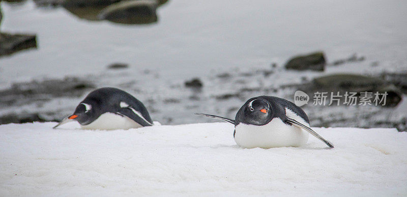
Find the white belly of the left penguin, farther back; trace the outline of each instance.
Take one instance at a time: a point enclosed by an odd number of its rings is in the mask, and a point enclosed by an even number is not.
[[[88,125],[80,125],[82,129],[92,130],[115,130],[115,129],[131,129],[142,127],[126,116],[120,116],[113,113],[105,113],[99,116],[98,119]]]

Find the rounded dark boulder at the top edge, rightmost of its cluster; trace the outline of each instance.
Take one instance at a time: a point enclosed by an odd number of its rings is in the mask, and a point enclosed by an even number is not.
[[[103,9],[99,19],[122,24],[157,22],[157,2],[153,0],[122,1]]]

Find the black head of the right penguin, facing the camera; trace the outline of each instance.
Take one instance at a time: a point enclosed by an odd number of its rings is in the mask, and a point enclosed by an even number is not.
[[[243,123],[251,125],[265,125],[269,122],[273,111],[269,102],[266,99],[254,98],[250,99],[243,109]]]

